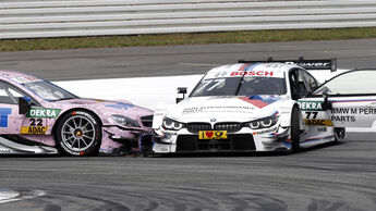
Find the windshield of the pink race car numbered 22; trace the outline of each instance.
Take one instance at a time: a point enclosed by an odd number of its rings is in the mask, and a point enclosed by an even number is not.
[[[58,101],[78,98],[77,96],[69,91],[41,79],[24,83],[22,85],[47,101]]]

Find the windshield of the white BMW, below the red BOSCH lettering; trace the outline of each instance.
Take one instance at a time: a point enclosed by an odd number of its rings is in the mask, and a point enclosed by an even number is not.
[[[245,76],[207,78],[199,82],[191,97],[256,96],[287,94],[284,77]]]

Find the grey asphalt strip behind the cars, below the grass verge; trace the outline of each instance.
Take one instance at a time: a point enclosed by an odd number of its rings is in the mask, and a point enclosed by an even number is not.
[[[376,39],[0,52],[0,69],[50,80],[204,74],[240,59],[338,58],[341,69],[376,67]]]

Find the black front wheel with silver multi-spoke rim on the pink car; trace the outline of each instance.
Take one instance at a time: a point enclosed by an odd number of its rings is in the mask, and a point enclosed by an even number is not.
[[[56,129],[57,147],[63,156],[98,156],[101,124],[85,110],[70,111],[59,120]]]

